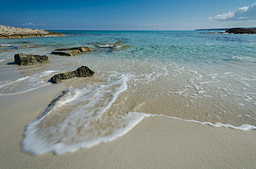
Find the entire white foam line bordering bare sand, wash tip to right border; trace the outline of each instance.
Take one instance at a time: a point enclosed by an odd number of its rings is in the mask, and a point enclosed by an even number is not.
[[[81,148],[92,148],[92,146],[95,146],[99,143],[111,142],[112,140],[125,135],[131,129],[133,129],[137,124],[139,124],[142,120],[144,120],[146,117],[164,117],[164,118],[173,119],[173,120],[181,120],[181,121],[192,122],[196,124],[208,124],[213,127],[225,127],[225,128],[238,129],[238,130],[256,129],[255,126],[250,124],[242,124],[240,126],[234,126],[231,124],[221,124],[221,123],[212,124],[210,122],[200,122],[197,120],[183,120],[183,119],[168,116],[168,115],[152,115],[152,114],[149,115],[149,114],[139,113],[139,112],[129,112],[126,115],[132,115],[131,116],[132,120],[128,124],[126,124],[125,128],[118,129],[115,133],[110,134],[106,137],[98,137],[97,139],[94,139],[89,142],[87,141],[82,143],[75,143],[72,145],[57,143],[54,145],[41,146],[43,144],[42,141],[44,140],[40,140],[40,138],[36,137],[36,124],[38,124],[40,120],[31,121],[31,123],[26,125],[24,139],[21,141],[22,151],[26,153],[31,153],[33,155],[40,155],[43,153],[50,153],[50,152],[53,152],[56,155],[61,155],[64,153],[73,153]],[[30,137],[26,137],[27,135],[29,135]]]

